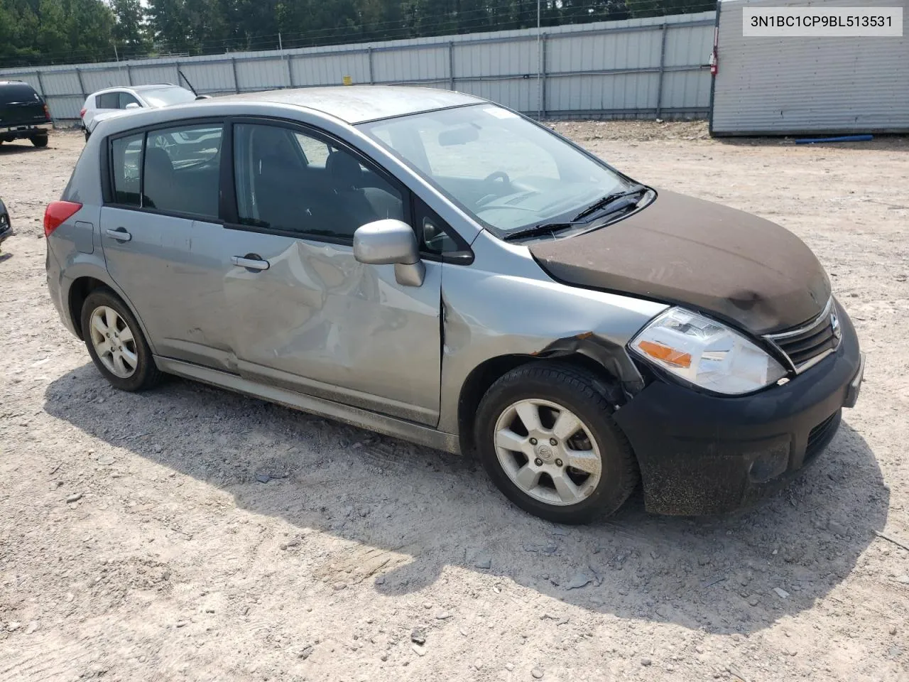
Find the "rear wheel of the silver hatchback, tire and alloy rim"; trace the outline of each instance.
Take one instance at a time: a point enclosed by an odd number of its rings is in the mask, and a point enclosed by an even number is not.
[[[95,325],[95,316],[100,326]],[[122,391],[144,391],[161,382],[164,375],[155,366],[142,328],[113,291],[101,287],[86,296],[80,323],[88,355],[111,386]],[[102,327],[111,336],[105,336]]]

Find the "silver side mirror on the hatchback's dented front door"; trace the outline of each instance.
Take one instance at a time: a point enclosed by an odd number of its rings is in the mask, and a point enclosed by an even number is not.
[[[420,260],[414,229],[401,220],[385,219],[357,227],[354,257],[371,266],[395,266],[395,280],[404,286],[421,286],[426,266]]]

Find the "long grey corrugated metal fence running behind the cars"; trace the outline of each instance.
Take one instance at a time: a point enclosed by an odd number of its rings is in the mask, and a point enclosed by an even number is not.
[[[596,24],[443,35],[283,52],[0,69],[30,83],[55,120],[114,85],[181,84],[202,95],[285,87],[414,84],[479,95],[540,117],[704,117],[714,12]],[[184,84],[181,84],[184,85]]]

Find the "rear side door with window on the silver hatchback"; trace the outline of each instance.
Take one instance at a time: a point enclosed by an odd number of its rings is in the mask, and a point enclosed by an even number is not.
[[[234,371],[218,220],[223,130],[191,123],[112,139],[101,241],[157,355]]]

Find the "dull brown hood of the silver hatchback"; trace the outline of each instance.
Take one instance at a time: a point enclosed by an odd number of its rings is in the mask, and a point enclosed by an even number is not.
[[[754,334],[799,326],[830,297],[824,268],[784,227],[665,190],[632,216],[530,251],[566,284],[687,306]]]

